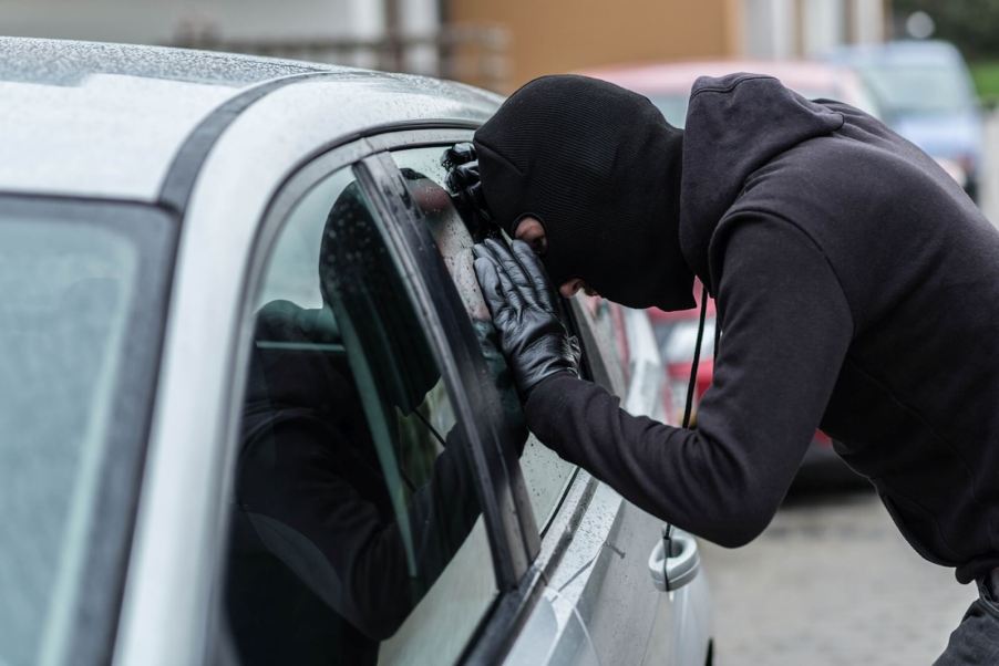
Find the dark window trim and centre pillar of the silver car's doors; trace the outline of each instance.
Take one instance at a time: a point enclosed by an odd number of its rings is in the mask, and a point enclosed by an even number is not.
[[[404,274],[412,278],[411,295],[428,326],[426,333],[437,354],[449,395],[456,398],[460,419],[470,424],[481,413],[478,409],[487,409],[491,403],[483,393],[487,389],[484,389],[482,377],[487,376],[487,370],[461,299],[433,239],[409,200],[408,189],[390,152],[443,147],[468,141],[475,127],[474,123],[442,122],[372,128],[354,141],[316,152],[301,160],[286,174],[261,216],[254,241],[251,278],[245,285],[249,302],[259,287],[262,262],[291,206],[322,178],[340,168],[353,168],[378,214],[375,219],[385,233],[387,244]],[[247,303],[244,303],[244,312],[246,308]],[[580,333],[574,312],[569,320],[575,332]],[[620,388],[609,385],[609,373],[603,367],[607,360],[597,345],[588,344],[587,348],[587,374],[608,388]],[[248,339],[240,342],[240,350],[249,350]],[[460,356],[452,358],[455,352]],[[508,654],[518,629],[531,618],[548,586],[549,574],[569,550],[576,529],[584,522],[601,485],[587,474],[576,474],[563,492],[549,532],[542,538],[534,524],[519,464],[516,459],[511,464],[511,451],[502,446],[502,438],[482,427],[468,435],[475,451],[476,476],[486,483],[483,514],[494,555],[498,596],[470,637],[461,662],[496,663]]]

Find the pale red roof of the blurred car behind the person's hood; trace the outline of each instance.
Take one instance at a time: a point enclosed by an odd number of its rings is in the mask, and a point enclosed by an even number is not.
[[[828,63],[804,61],[704,60],[639,65],[621,65],[583,72],[643,93],[688,94],[699,76],[722,76],[733,72],[770,74],[784,85],[797,89],[833,89],[843,76],[853,75]]]

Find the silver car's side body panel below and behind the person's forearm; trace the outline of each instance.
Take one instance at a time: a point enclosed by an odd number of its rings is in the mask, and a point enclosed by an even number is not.
[[[625,409],[661,418],[665,375],[648,316],[587,301],[576,311],[607,318],[610,308],[622,311],[630,357]],[[707,574],[674,593],[653,586],[648,556],[661,527],[580,470],[542,541],[543,600],[506,663],[704,664],[712,636]]]

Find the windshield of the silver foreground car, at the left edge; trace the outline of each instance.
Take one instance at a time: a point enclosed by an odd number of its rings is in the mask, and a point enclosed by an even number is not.
[[[107,468],[141,460],[168,246],[158,212],[37,204],[0,201],[0,664],[68,658],[115,589],[102,525],[134,499]]]

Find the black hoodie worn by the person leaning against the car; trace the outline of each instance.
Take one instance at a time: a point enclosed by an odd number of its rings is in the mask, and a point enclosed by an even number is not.
[[[775,79],[694,84],[680,241],[723,331],[696,430],[567,374],[531,428],[639,507],[735,547],[816,427],[913,547],[968,582],[999,565],[999,233],[939,166]]]

